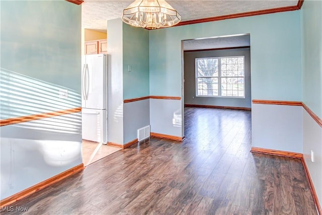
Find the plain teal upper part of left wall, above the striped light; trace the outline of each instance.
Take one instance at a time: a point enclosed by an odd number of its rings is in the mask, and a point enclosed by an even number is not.
[[[15,2],[1,1],[1,67],[81,92],[81,6]]]

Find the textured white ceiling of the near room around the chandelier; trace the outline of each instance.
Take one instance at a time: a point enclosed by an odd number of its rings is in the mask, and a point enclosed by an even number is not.
[[[122,11],[133,1],[85,0],[82,4],[82,27],[106,31],[107,20],[121,18]],[[239,14],[281,7],[296,6],[298,1],[287,0],[213,0],[167,1],[181,15],[181,21]]]

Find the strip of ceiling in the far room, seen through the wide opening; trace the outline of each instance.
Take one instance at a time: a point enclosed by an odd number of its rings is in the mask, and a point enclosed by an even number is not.
[[[218,49],[250,45],[250,35],[225,36],[201,40],[186,40],[183,42],[183,50]]]

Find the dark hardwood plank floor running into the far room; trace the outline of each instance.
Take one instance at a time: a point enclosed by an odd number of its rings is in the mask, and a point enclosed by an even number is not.
[[[250,152],[250,111],[185,108],[185,129],[183,142],[150,138],[11,206],[26,214],[317,214],[299,159]]]

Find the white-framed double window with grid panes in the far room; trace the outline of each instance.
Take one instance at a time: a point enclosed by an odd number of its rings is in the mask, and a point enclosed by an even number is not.
[[[245,98],[245,57],[197,58],[196,96]]]

